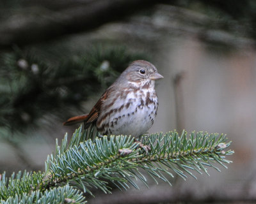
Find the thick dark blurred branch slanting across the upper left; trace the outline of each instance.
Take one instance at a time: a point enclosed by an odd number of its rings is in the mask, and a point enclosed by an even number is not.
[[[159,1],[95,0],[58,11],[42,7],[24,8],[0,24],[0,47],[10,47],[13,44],[22,46],[52,40],[65,34],[90,31],[156,3]]]

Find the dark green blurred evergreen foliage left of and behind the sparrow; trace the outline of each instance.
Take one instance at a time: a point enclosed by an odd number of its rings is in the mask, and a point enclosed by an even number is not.
[[[24,131],[46,114],[65,120],[74,110],[83,113],[83,101],[111,85],[129,62],[147,58],[100,45],[68,57],[49,55],[19,48],[1,54],[0,128]]]

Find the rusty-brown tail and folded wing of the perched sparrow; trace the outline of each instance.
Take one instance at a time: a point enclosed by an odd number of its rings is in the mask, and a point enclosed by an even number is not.
[[[106,100],[106,98],[108,97],[108,92],[109,92],[109,89],[106,92],[104,92],[104,94],[102,94],[99,101],[97,101],[97,103],[93,106],[90,113],[71,117],[66,122],[64,122],[63,125],[69,126],[79,122],[84,122],[84,129],[88,128],[90,124],[92,124],[98,119],[102,101]]]

